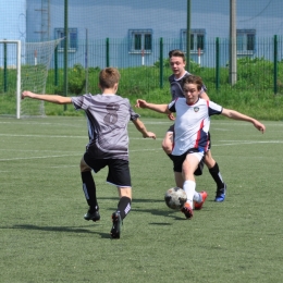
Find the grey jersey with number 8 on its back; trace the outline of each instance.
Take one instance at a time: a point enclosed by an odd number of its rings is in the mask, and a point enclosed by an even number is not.
[[[84,95],[72,97],[72,102],[87,115],[87,152],[91,158],[128,160],[127,123],[139,116],[128,99],[118,95]]]

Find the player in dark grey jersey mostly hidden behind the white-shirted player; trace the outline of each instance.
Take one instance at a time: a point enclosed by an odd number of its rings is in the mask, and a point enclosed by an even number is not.
[[[169,52],[169,58],[170,58],[170,66],[173,72],[173,74],[169,77],[169,83],[170,83],[170,90],[171,90],[171,96],[172,100],[176,99],[177,97],[184,97],[183,94],[183,85],[184,85],[184,79],[186,76],[192,75],[185,70],[186,66],[186,61],[185,61],[185,54],[181,50],[171,50]],[[207,88],[205,85],[201,86],[201,90],[199,91],[199,97],[206,100],[209,100],[209,97],[207,95]],[[171,120],[174,120],[174,115],[169,115]],[[172,125],[167,134],[165,137],[162,142],[162,148],[163,150],[168,153],[168,156],[171,158],[171,152],[172,152],[172,138],[173,138],[173,133],[174,133],[174,125]],[[211,146],[211,142],[209,144],[209,149]],[[226,195],[226,184],[224,183],[222,175],[219,170],[219,164],[218,162],[212,158],[211,150],[208,150],[205,158],[204,162],[206,163],[208,171],[210,175],[212,176],[213,181],[217,184],[217,194],[214,200],[218,202],[221,202],[225,199]],[[199,167],[199,169],[195,172],[196,175],[201,175],[202,174],[202,164]],[[176,185],[180,186],[183,184],[183,179],[176,180]],[[206,198],[207,194],[206,192],[200,192],[204,198]],[[196,208],[200,209],[201,205],[198,205],[196,202]]]

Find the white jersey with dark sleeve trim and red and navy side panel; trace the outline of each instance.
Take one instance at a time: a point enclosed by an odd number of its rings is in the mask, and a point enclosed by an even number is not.
[[[171,112],[176,112],[172,155],[182,156],[190,148],[206,152],[210,116],[221,114],[222,107],[201,98],[194,104],[187,104],[185,98],[177,98],[168,107]]]

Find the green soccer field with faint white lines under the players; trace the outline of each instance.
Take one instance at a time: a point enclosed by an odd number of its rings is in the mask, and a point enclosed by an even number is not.
[[[110,238],[116,188],[95,175],[101,220],[87,222],[79,160],[85,118],[0,118],[0,282],[283,282],[283,122],[212,120],[212,156],[227,184],[214,202],[207,169],[197,190],[208,198],[193,220],[163,200],[174,186],[161,149],[171,122],[143,120],[157,140],[130,123],[132,211]]]

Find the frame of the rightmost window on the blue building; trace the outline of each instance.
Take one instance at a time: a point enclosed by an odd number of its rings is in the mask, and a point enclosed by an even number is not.
[[[239,36],[243,39],[242,42],[239,42]],[[248,48],[248,45],[250,44],[248,37],[253,38],[253,49]],[[253,56],[256,52],[256,29],[237,29],[236,45],[237,56]],[[243,48],[239,49],[239,45]]]

